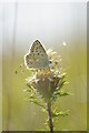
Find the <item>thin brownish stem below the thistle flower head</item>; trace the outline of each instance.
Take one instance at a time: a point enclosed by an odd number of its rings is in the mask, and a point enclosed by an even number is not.
[[[49,119],[50,133],[53,133],[53,124],[52,124],[52,117],[51,117],[51,104],[50,104],[50,102],[48,103],[48,119]]]

